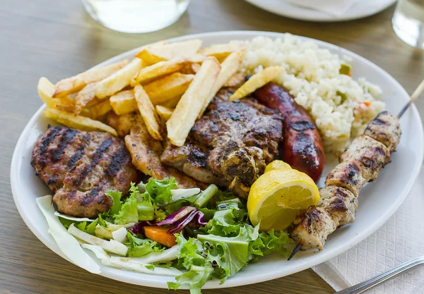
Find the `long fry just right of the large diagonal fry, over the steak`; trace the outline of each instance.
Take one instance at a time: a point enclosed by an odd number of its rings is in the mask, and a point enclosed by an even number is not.
[[[221,70],[219,72],[218,78],[216,78],[211,93],[209,93],[208,97],[205,99],[204,104],[201,107],[201,111],[199,112],[199,116],[197,116],[197,118],[201,118],[209,103],[211,103],[213,97],[220,90],[220,88],[223,87],[225,82],[228,81],[228,79],[231,78],[231,76],[237,72],[241,63],[242,54],[240,51],[232,52],[232,54],[230,54],[230,56],[228,56],[227,59],[225,59],[225,61],[221,63]]]

